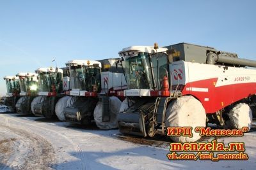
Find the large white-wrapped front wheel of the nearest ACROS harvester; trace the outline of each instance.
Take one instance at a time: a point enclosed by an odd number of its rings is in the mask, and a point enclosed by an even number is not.
[[[170,136],[175,142],[193,142],[201,138],[195,127],[205,127],[206,115],[202,103],[193,96],[182,96],[172,101],[166,109],[166,127],[192,127],[193,136]]]

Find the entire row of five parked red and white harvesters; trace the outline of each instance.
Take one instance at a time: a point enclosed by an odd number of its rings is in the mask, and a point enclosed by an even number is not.
[[[5,104],[17,113],[118,127],[153,137],[166,127],[239,129],[252,124],[256,61],[209,46],[131,46],[118,59],[70,60],[66,67],[5,76]],[[200,136],[173,137],[196,141]]]

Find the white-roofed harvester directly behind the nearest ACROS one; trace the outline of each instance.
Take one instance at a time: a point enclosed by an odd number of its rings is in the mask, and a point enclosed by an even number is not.
[[[118,111],[111,111],[110,106],[116,101],[116,103],[119,102],[119,106],[116,106],[119,109],[121,101],[111,96],[116,96],[117,92],[126,87],[122,68],[116,67],[118,60],[71,60],[67,62],[67,66],[70,67],[72,87],[69,95],[73,97],[70,100],[72,103],[64,110],[67,122],[88,125],[95,120],[98,127],[102,129],[105,129],[105,126],[106,129],[112,128],[108,124],[116,120],[111,118],[111,113],[117,114]]]

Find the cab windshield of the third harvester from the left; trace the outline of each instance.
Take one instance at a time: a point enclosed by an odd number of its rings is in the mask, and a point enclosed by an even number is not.
[[[60,93],[62,91],[62,74],[56,72],[41,72],[38,74],[38,89],[40,92]]]

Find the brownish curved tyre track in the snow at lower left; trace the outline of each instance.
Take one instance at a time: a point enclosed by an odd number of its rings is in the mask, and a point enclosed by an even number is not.
[[[6,168],[12,169],[51,169],[55,164],[55,153],[51,143],[22,129],[0,125],[7,134],[17,138],[13,141],[13,151]]]

